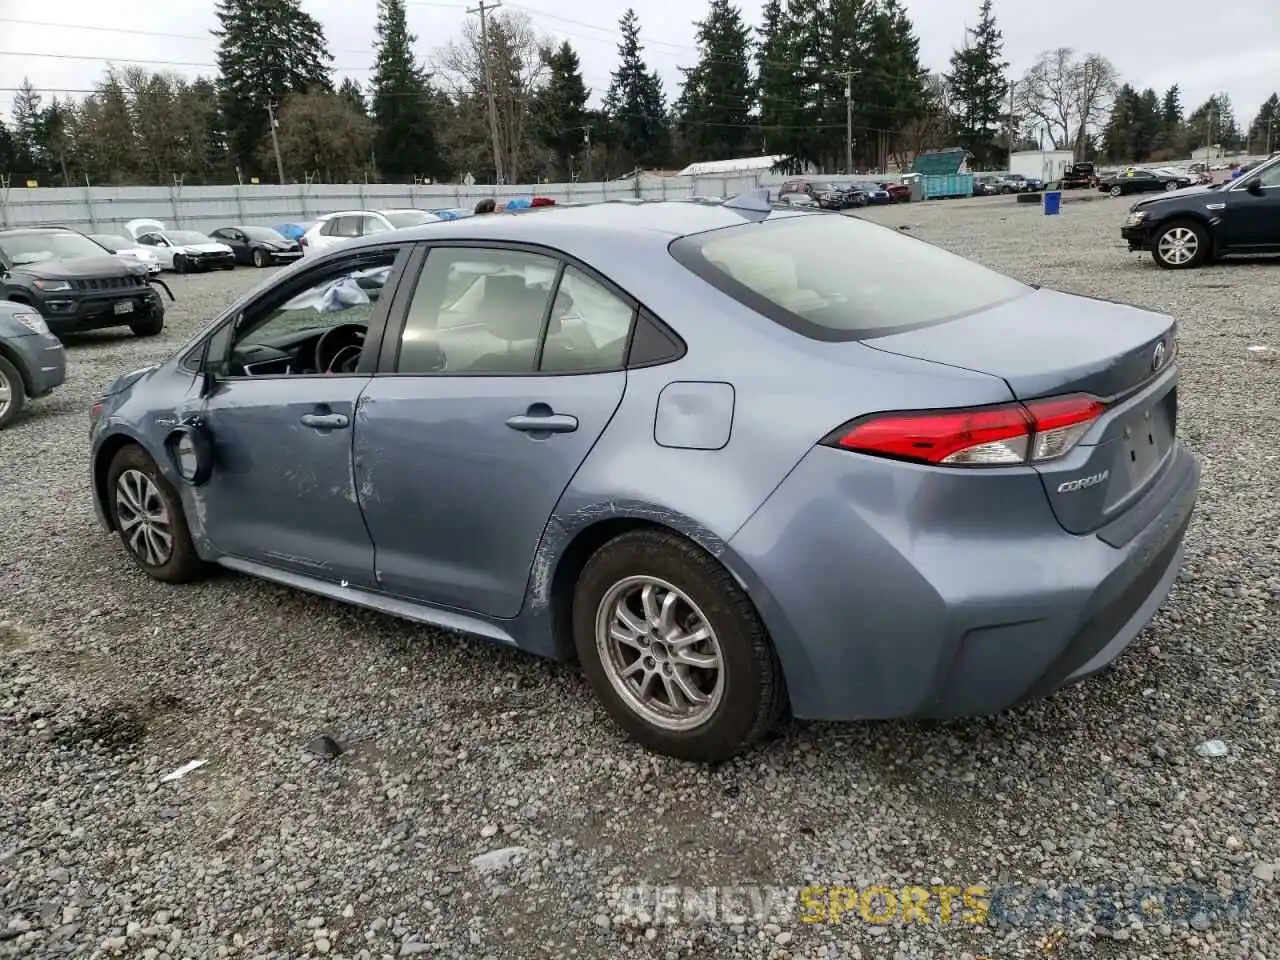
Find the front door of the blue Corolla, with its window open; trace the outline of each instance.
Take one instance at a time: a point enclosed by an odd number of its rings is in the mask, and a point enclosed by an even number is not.
[[[264,293],[211,340],[202,420],[214,471],[195,511],[214,548],[333,582],[374,586],[374,545],[352,476],[352,436],[398,276],[398,248],[356,251]],[[228,346],[229,340],[229,346]]]

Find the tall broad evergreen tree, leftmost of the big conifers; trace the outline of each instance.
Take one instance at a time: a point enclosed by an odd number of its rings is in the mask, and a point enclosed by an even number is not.
[[[270,136],[268,105],[291,93],[332,91],[320,22],[301,0],[218,0],[219,92],[232,159],[244,172],[261,165],[259,151]]]

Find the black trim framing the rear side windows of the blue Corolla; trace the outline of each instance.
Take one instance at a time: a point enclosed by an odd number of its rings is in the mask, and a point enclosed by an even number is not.
[[[397,291],[396,302],[392,305],[394,308],[393,319],[388,321],[385,330],[383,332],[383,346],[378,358],[376,376],[430,376],[430,378],[529,378],[529,376],[589,376],[593,374],[614,374],[623,370],[640,369],[659,366],[660,364],[671,364],[687,353],[689,347],[684,338],[671,329],[669,325],[664,324],[652,310],[648,310],[644,303],[641,303],[636,297],[627,293],[617,283],[611,280],[608,276],[602,274],[595,268],[589,264],[584,264],[577,257],[566,253],[556,247],[549,247],[541,243],[526,243],[521,241],[494,241],[494,239],[463,239],[463,238],[448,238],[448,239],[431,239],[431,241],[419,241],[416,244],[417,250],[415,256],[406,264],[404,274],[401,279],[399,289]],[[433,250],[440,248],[458,248],[465,250],[500,250],[516,253],[532,253],[536,256],[544,256],[549,260],[556,261],[556,285],[552,288],[552,296],[548,298],[547,306],[543,314],[543,326],[539,333],[538,348],[534,360],[534,370],[529,371],[470,371],[470,370],[443,370],[443,371],[401,371],[396,366],[399,362],[399,348],[402,343],[402,337],[404,333],[404,326],[408,323],[408,307],[412,302],[413,294],[417,292],[417,283],[421,278],[422,269],[426,266],[426,259],[430,256]],[[573,269],[581,271],[585,276],[599,283],[609,293],[616,296],[623,303],[631,307],[631,325],[627,329],[627,342],[626,348],[622,352],[622,362],[617,366],[604,366],[604,367],[585,367],[579,370],[538,370],[538,365],[541,364],[543,347],[547,343],[547,328],[550,323],[550,311],[556,307],[556,294],[559,292],[559,280],[564,275],[566,268],[572,266]],[[650,321],[657,324],[663,333],[671,338],[671,340],[680,346],[680,352],[677,356],[669,360],[649,361],[645,364],[631,364],[631,344],[635,340],[636,328],[640,323],[640,314],[645,312],[649,315]]]

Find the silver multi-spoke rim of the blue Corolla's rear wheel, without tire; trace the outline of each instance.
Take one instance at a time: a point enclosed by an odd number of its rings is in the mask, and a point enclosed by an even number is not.
[[[666,580],[632,576],[609,588],[596,608],[595,648],[617,694],[655,727],[692,730],[719,709],[719,640],[698,604]]]

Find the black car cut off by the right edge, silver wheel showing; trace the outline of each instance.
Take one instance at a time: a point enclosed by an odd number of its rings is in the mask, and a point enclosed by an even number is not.
[[[1139,200],[1120,236],[1129,250],[1149,250],[1166,270],[1280,253],[1280,154],[1235,180]]]

